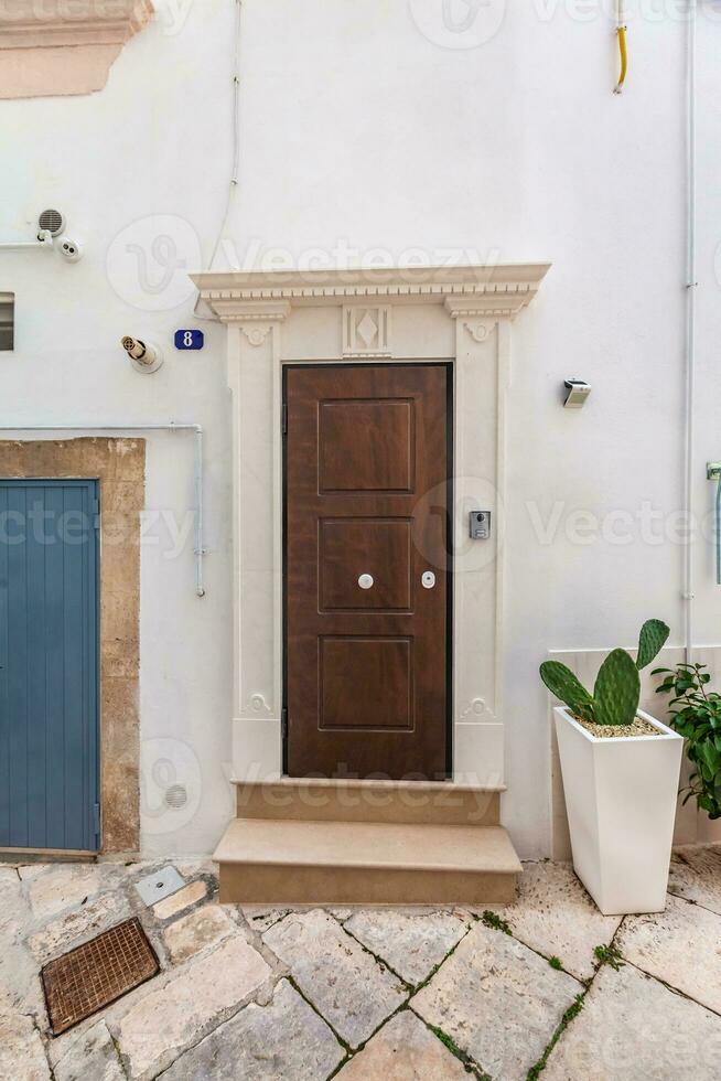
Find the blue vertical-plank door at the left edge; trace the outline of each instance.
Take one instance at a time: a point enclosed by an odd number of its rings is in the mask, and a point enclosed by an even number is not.
[[[98,485],[0,480],[0,848],[99,847]]]

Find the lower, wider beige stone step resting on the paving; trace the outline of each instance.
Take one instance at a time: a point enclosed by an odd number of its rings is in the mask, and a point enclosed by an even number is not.
[[[502,826],[235,818],[213,857],[220,902],[508,903],[520,863]]]

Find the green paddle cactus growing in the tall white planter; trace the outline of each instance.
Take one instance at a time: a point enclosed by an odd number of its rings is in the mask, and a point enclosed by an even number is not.
[[[638,673],[660,652],[668,635],[668,627],[661,620],[646,620],[638,635],[636,661],[625,650],[613,650],[599,670],[592,695],[560,661],[544,661],[540,676],[551,694],[581,720],[633,725],[641,699]]]

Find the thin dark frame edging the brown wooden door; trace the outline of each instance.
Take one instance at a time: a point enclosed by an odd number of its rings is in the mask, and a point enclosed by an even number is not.
[[[351,368],[378,367],[377,361],[343,362],[337,361],[325,363],[284,361],[282,364],[282,392],[281,392],[281,437],[282,437],[282,705],[281,705],[281,741],[282,741],[282,771],[288,773],[288,429],[286,424],[287,402],[288,402],[288,372],[291,368]],[[445,381],[445,453],[446,453],[446,558],[445,569],[445,779],[453,775],[453,550],[455,536],[455,522],[450,509],[453,506],[454,486],[454,463],[453,463],[453,364],[450,361],[394,361],[384,364],[384,367],[443,367],[446,372]]]

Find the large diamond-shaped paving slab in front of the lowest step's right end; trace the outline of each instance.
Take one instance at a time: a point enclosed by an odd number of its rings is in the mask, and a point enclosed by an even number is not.
[[[477,923],[410,1005],[492,1078],[520,1081],[582,991],[523,943]]]

